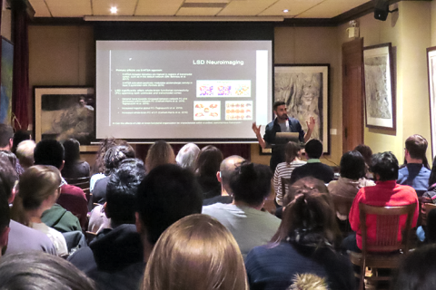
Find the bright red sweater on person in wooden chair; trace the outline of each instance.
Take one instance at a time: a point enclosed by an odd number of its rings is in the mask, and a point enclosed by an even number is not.
[[[362,249],[362,230],[359,204],[363,203],[374,207],[398,207],[416,203],[415,213],[411,221],[411,227],[416,226],[420,214],[420,203],[415,189],[409,186],[398,185],[396,180],[377,181],[375,187],[366,187],[359,190],[352,202],[350,210],[350,224],[352,230],[356,232],[357,247]],[[407,215],[400,217],[400,230],[398,240],[401,241],[401,230],[406,227]],[[376,236],[376,217],[369,215],[366,218],[368,240],[375,240]]]

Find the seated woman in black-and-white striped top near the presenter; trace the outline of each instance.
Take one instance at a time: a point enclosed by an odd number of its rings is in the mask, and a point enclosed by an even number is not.
[[[285,162],[279,163],[275,168],[273,186],[275,191],[275,201],[279,206],[283,205],[283,195],[282,192],[282,178],[290,179],[293,169],[306,164],[305,161],[300,160],[302,156],[302,149],[295,142],[288,142],[284,147]],[[288,189],[288,185],[286,185]]]

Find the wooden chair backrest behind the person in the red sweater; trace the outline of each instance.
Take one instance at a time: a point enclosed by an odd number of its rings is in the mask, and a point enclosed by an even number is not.
[[[411,220],[415,212],[416,203],[401,207],[372,207],[359,204],[362,227],[362,253],[366,252],[393,252],[402,249],[409,250]],[[368,241],[366,220],[367,215],[376,217],[376,239]],[[398,240],[401,216],[407,215],[406,225],[401,241]],[[364,222],[362,222],[364,221]]]

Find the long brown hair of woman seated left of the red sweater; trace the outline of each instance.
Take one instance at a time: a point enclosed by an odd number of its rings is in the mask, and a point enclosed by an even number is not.
[[[282,223],[272,237],[272,243],[292,239],[301,231],[316,234],[331,244],[338,241],[341,232],[336,222],[332,198],[321,180],[299,179],[292,184],[283,201],[289,202],[289,195],[295,198],[286,205]]]

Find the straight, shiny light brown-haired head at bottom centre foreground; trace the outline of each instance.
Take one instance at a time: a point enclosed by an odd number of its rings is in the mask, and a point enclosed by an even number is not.
[[[217,220],[191,215],[168,227],[154,246],[143,290],[248,290],[243,256]]]

